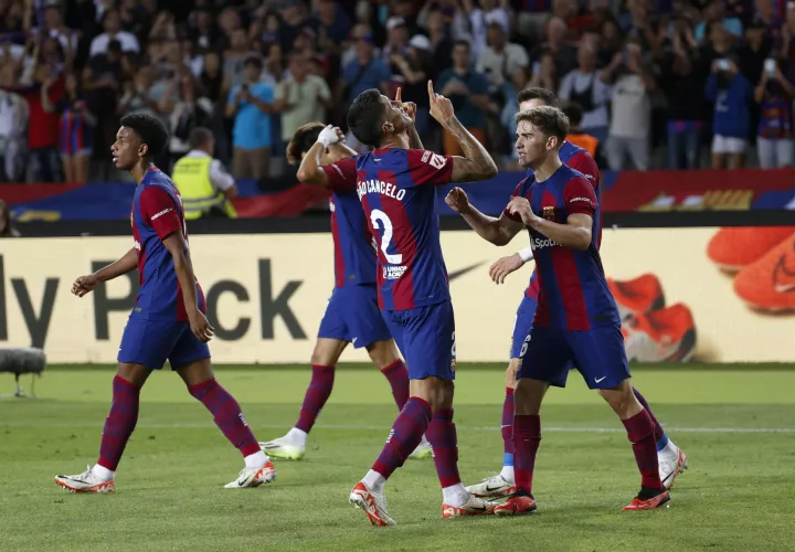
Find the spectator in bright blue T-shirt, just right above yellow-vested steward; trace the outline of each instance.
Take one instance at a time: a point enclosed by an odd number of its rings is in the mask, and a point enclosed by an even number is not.
[[[232,163],[239,179],[261,179],[269,172],[274,89],[259,81],[262,68],[258,57],[247,59],[245,82],[234,86],[226,100],[226,116],[234,117]]]

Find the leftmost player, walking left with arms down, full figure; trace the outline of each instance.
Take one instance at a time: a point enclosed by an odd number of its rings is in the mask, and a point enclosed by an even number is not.
[[[55,482],[73,492],[115,490],[116,467],[138,421],[140,389],[166,360],[243,454],[245,467],[226,488],[271,482],[276,478],[273,464],[259,449],[237,402],[215,381],[210,364],[208,341],[213,329],[193,275],[182,200],[171,179],[151,162],[168,144],[166,127],[147,114],[130,114],[120,123],[110,150],[114,164],[129,171],[138,184],[130,213],[134,247],[115,263],[77,278],[72,293],[83,297],[136,267],[140,291],[121,337],[99,459],[83,474],[56,476]]]

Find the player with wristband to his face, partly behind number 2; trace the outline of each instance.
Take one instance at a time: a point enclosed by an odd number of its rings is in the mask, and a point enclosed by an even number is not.
[[[287,146],[288,161],[300,160],[298,181],[322,185],[331,192],[335,289],[318,329],[311,382],[298,421],[284,437],[259,444],[274,458],[304,457],[307,435],[331,395],[335,367],[349,343],[367,349],[373,364],[390,382],[399,411],[409,400],[409,372],[378,307],[373,237],[356,193],[358,153],[342,144],[343,139],[342,131],[331,125],[308,123],[296,130]],[[423,437],[410,457],[430,456],[431,447]]]

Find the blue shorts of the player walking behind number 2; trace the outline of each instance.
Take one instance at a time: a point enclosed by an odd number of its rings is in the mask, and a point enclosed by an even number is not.
[[[374,285],[335,288],[318,337],[353,343],[357,349],[392,339],[378,308],[378,288]]]

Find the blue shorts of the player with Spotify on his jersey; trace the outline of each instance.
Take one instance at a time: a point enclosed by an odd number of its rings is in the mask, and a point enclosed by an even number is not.
[[[565,388],[569,369],[576,367],[590,389],[613,389],[629,378],[621,326],[582,331],[534,327],[517,378]]]

